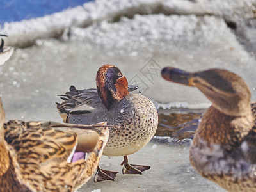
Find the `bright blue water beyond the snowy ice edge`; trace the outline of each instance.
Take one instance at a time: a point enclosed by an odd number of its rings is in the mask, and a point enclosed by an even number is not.
[[[93,0],[0,0],[0,25],[43,17]]]

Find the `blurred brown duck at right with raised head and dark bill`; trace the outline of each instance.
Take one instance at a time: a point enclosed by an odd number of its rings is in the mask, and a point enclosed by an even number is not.
[[[196,129],[190,162],[228,191],[256,191],[256,103],[237,74],[221,69],[189,73],[166,67],[168,81],[196,86],[211,100]]]

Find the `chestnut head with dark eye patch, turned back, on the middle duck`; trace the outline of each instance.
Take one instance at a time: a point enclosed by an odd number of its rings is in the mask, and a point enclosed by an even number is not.
[[[97,72],[96,83],[100,99],[107,109],[129,94],[127,79],[114,65],[102,65]]]

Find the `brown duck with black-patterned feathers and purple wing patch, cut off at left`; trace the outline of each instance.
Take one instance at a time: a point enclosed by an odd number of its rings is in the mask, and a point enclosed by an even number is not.
[[[105,123],[4,121],[0,102],[0,191],[76,191],[97,168],[109,135]],[[86,159],[71,163],[76,147]]]

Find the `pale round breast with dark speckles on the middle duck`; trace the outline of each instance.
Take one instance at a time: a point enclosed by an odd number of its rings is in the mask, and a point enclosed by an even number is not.
[[[111,118],[110,118],[111,116]],[[109,141],[106,156],[127,156],[147,145],[156,133],[158,116],[154,104],[147,97],[129,94],[109,109]]]

